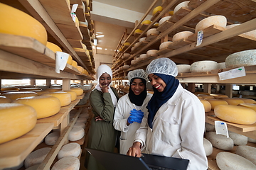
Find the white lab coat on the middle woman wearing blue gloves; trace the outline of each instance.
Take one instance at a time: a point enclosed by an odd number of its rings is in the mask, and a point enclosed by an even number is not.
[[[142,107],[140,108],[144,115],[148,113],[148,110],[146,108],[152,94],[147,93],[146,98],[144,99],[144,102],[142,103]],[[129,147],[132,147],[132,144],[134,142],[134,136],[136,130],[139,128],[140,123],[134,122],[127,126],[127,119],[130,116],[130,111],[137,108],[134,106],[133,103],[129,100],[128,94],[122,96],[119,98],[119,101],[117,103],[116,110],[114,112],[114,128],[116,130],[121,131],[120,136],[120,154],[127,154],[127,151]]]

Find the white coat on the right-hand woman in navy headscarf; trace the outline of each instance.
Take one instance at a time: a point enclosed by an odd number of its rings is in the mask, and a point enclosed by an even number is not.
[[[142,143],[144,152],[189,159],[189,170],[208,168],[203,147],[205,112],[203,104],[194,94],[179,84],[174,96],[157,111],[152,129],[146,117],[134,140]]]

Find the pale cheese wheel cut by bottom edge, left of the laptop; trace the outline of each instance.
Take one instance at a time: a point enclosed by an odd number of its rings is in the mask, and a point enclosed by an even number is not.
[[[79,170],[80,161],[77,157],[68,156],[58,160],[51,170]]]

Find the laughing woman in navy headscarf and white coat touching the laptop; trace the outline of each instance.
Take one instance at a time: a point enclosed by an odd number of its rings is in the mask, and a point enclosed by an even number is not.
[[[146,74],[154,95],[149,101],[149,115],[142,120],[127,154],[141,157],[145,148],[147,154],[189,159],[189,170],[206,170],[203,104],[175,79],[178,69],[169,58],[153,60]]]

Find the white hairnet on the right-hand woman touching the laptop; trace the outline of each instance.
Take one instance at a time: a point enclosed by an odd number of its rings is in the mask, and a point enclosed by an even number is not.
[[[151,73],[166,74],[176,77],[178,75],[178,68],[169,58],[158,58],[150,62],[146,67],[146,75]]]

